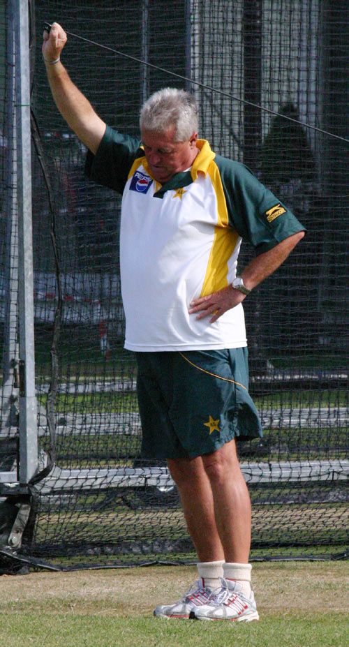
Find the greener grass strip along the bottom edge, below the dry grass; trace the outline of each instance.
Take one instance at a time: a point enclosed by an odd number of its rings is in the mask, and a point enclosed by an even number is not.
[[[5,647],[343,647],[346,626],[341,615],[311,618],[305,613],[269,616],[254,625],[218,623],[165,623],[153,618],[98,618],[73,613],[33,617],[18,613],[6,618],[0,639]]]

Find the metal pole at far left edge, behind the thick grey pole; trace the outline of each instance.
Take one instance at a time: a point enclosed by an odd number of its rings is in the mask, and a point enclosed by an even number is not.
[[[17,426],[16,403],[18,389],[15,370],[18,365],[17,298],[18,298],[18,228],[17,228],[17,151],[15,129],[15,49],[13,2],[8,5],[6,21],[6,122],[4,138],[6,147],[6,262],[5,303],[3,332],[3,387],[1,430],[10,434]],[[15,429],[17,432],[17,429]],[[10,434],[11,435],[11,434]]]

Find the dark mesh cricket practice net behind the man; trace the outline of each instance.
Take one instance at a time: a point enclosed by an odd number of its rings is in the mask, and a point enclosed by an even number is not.
[[[62,61],[107,124],[138,134],[152,91],[193,91],[200,135],[248,165],[308,229],[244,302],[250,391],[265,435],[240,443],[239,457],[253,504],[252,559],[343,556],[348,4],[29,3],[39,452],[27,495],[15,489],[20,313],[9,6],[0,3],[0,470],[14,476],[0,482],[0,560],[11,562],[8,537],[23,507],[15,560],[57,568],[195,560],[165,464],[140,452],[135,359],[123,348],[120,198],[84,177],[86,151],[46,79],[45,21],[85,39],[68,36]],[[241,268],[252,255],[243,246]]]

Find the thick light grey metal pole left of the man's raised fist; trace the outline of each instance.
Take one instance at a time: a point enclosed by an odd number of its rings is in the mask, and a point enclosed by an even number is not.
[[[31,226],[31,130],[28,1],[15,0],[15,87],[20,316],[20,484],[38,469],[34,358],[34,279]]]

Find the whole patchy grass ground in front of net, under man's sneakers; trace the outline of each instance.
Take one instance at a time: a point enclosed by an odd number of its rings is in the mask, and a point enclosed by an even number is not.
[[[3,647],[344,647],[348,563],[253,566],[260,622],[158,620],[194,567],[38,572],[0,578]]]

